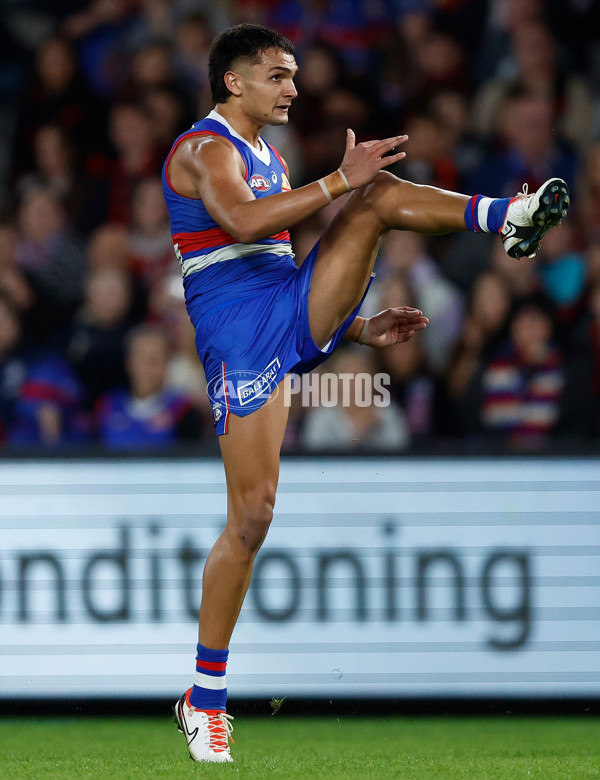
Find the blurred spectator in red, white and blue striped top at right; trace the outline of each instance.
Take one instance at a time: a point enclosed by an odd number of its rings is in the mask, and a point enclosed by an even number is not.
[[[543,304],[519,304],[508,340],[483,370],[480,413],[489,434],[513,444],[539,445],[555,429],[565,375],[552,331]]]

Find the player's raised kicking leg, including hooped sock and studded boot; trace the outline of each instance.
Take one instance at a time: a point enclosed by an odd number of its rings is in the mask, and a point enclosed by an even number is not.
[[[486,198],[413,184],[380,171],[352,193],[321,239],[309,296],[314,340],[319,346],[327,343],[358,305],[388,230],[498,233],[512,257],[531,257],[545,233],[566,216],[568,205],[562,179],[548,180],[531,195],[525,187],[514,198]]]

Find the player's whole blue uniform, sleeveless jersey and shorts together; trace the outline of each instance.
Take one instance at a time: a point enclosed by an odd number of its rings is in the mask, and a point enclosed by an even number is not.
[[[221,436],[227,433],[230,414],[244,417],[260,408],[285,374],[312,371],[326,360],[359,306],[321,349],[312,338],[308,315],[319,243],[297,268],[287,230],[242,244],[214,221],[200,199],[175,192],[167,171],[169,160],[178,144],[201,135],[222,136],[235,146],[255,198],[290,185],[275,149],[262,138],[260,149],[254,148],[215,111],[177,138],[163,168],[186,306]]]

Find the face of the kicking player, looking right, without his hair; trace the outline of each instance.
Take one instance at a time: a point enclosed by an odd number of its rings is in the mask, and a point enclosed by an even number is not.
[[[284,125],[292,100],[298,94],[294,76],[298,67],[292,54],[267,49],[260,61],[240,68],[241,99],[245,112],[261,125]]]

